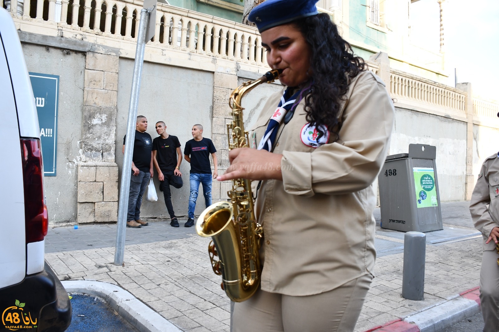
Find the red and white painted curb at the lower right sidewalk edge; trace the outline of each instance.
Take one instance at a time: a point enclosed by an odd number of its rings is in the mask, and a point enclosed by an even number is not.
[[[480,312],[480,288],[459,294],[455,299],[424,310],[404,320],[396,320],[365,332],[436,332]]]

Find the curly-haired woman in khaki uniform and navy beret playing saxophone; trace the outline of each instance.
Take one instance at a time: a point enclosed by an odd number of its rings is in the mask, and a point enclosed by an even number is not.
[[[393,104],[316,2],[266,0],[249,16],[285,87],[250,132],[256,149],[231,150],[218,177],[260,182],[260,289],[235,304],[233,332],[351,332],[373,278],[371,184]]]

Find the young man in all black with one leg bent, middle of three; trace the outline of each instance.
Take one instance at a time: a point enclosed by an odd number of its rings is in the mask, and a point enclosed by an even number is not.
[[[182,150],[180,150],[179,139],[177,136],[168,135],[163,121],[156,122],[156,133],[159,137],[153,140],[153,163],[158,171],[160,190],[163,191],[165,205],[170,214],[170,225],[179,227],[179,221],[173,211],[170,184],[177,189],[182,187],[182,173],[180,172]]]

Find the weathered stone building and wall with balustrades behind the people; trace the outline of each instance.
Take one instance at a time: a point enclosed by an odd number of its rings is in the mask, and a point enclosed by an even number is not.
[[[186,1],[179,2],[176,4],[187,6]],[[187,2],[196,3],[197,9],[203,8],[202,3],[208,5],[199,0]],[[234,4],[229,7],[241,3],[228,2]],[[378,25],[374,16],[374,23],[370,18],[366,21],[370,9],[358,2],[319,3],[354,51],[365,58],[369,70],[385,81],[394,99],[395,128],[389,154],[407,152],[411,143],[437,146],[442,201],[469,199],[473,174],[478,173],[482,160],[497,150],[498,104],[473,98],[470,83],[457,87],[439,83],[445,78],[443,54],[411,47],[410,40],[403,37],[405,23],[399,19],[392,22],[385,16],[383,21],[376,16]],[[402,2],[410,4],[410,0]],[[392,10],[392,17],[407,10],[394,1],[385,0],[383,5],[385,12]],[[45,177],[50,224],[116,221],[142,2],[13,0],[4,2],[4,7],[19,31],[28,70],[60,78],[57,175]],[[220,15],[230,16],[227,12]],[[397,43],[405,46],[397,48]],[[159,3],[156,34],[146,46],[139,114],[148,118],[147,132],[153,138],[157,136],[154,124],[164,121],[167,132],[178,136],[182,146],[192,138],[192,125],[202,124],[204,136],[211,138],[218,150],[219,170],[224,171],[229,166],[229,94],[241,82],[267,70],[265,50],[254,27]],[[276,83],[259,86],[245,97],[247,128],[265,98],[279,89]],[[172,189],[179,216],[187,214],[189,169],[184,162],[185,185]],[[227,198],[229,185],[214,181],[215,201]],[[157,202],[144,201],[144,216],[168,215],[159,196]],[[203,197],[199,199],[196,213],[204,208]]]

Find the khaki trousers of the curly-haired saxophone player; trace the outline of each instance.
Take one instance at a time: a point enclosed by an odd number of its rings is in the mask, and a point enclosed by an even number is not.
[[[352,332],[372,278],[368,274],[309,296],[258,290],[234,305],[232,332]]]

